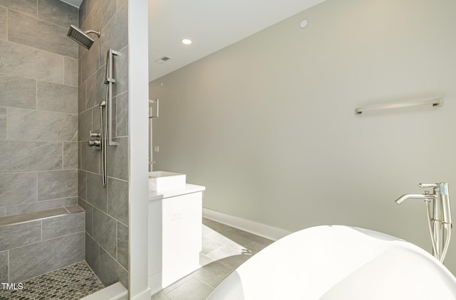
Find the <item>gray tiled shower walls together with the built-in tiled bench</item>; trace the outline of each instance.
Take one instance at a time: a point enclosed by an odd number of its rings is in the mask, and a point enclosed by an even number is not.
[[[100,30],[100,39],[78,46],[66,36],[71,24]],[[87,140],[100,127],[108,48],[119,51],[119,144],[108,148],[103,188],[99,151]],[[0,0],[0,53],[0,282],[86,260],[105,286],[128,288],[128,0],[85,0],[80,9]]]

